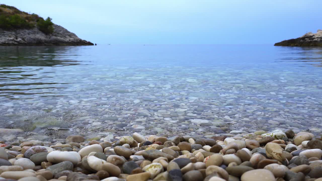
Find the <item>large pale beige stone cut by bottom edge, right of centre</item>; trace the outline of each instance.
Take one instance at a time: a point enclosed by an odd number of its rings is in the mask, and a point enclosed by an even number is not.
[[[245,172],[241,181],[275,181],[275,176],[270,170],[267,169],[256,169]]]

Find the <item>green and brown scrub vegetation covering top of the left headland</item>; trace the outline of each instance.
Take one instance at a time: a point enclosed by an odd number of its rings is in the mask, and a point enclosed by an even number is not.
[[[20,11],[14,6],[0,5],[0,28],[5,30],[31,29],[37,27],[45,34],[54,31],[52,19],[48,17],[44,20],[37,14],[28,14]]]

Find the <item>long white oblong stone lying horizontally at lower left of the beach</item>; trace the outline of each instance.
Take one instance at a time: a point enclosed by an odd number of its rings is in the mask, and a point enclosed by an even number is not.
[[[52,151],[48,153],[47,160],[52,163],[70,161],[74,165],[81,162],[81,156],[75,151]]]

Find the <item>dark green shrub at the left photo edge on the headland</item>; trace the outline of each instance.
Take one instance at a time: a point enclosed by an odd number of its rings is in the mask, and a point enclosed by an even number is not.
[[[24,18],[19,16],[18,14],[14,15],[0,15],[0,28],[3,29],[30,29],[33,28],[34,25],[28,23]]]

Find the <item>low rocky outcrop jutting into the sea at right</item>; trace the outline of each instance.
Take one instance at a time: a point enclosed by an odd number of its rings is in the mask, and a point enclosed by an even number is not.
[[[275,46],[322,46],[322,30],[317,33],[306,33],[305,35],[290,40],[275,43]]]

